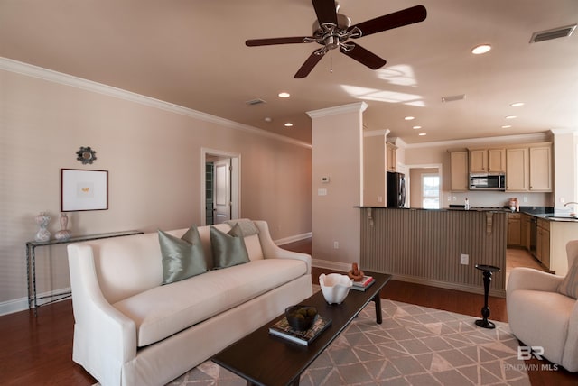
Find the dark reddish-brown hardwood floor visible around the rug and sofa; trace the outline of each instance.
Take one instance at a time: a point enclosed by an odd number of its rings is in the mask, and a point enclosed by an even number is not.
[[[286,244],[285,249],[311,253],[311,240]],[[521,256],[517,264],[530,264]],[[329,272],[312,270],[313,281]],[[477,294],[437,289],[419,284],[391,280],[384,288],[382,298],[403,301],[424,307],[445,309],[465,315],[480,316],[483,297]],[[490,319],[508,321],[506,300],[489,299]],[[96,383],[88,372],[72,362],[74,318],[72,303],[64,300],[33,312],[22,311],[0,317],[0,384],[1,385],[59,385],[89,386]],[[539,366],[544,362],[527,361]],[[528,372],[533,386],[576,385],[578,372],[564,369],[556,372]]]

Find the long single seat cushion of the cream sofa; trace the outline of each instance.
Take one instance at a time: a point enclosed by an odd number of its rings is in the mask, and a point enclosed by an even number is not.
[[[307,265],[300,260],[257,260],[149,289],[113,306],[135,321],[137,345],[142,347],[306,273]]]

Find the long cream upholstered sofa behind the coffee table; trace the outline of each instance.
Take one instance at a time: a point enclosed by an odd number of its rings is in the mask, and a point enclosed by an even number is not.
[[[70,244],[74,362],[103,386],[163,385],[311,296],[311,256],[254,224],[250,262],[166,285],[157,233]],[[210,255],[209,226],[199,234]]]

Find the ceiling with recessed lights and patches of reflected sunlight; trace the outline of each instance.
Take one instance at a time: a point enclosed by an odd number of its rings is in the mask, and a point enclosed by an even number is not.
[[[0,56],[305,142],[307,111],[361,100],[369,130],[407,143],[578,129],[578,32],[529,43],[578,23],[577,0],[341,0],[340,13],[356,24],[417,4],[423,23],[356,41],[387,60],[375,71],[331,51],[294,79],[317,44],[245,45],[310,35],[310,0],[0,0]],[[266,104],[247,106],[255,98]]]

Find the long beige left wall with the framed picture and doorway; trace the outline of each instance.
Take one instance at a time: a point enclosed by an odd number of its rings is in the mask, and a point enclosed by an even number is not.
[[[76,235],[199,224],[201,148],[241,155],[241,216],[268,221],[276,240],[311,232],[310,145],[30,72],[0,69],[0,313],[26,304],[24,244],[37,231],[34,216],[46,211],[51,233],[60,229],[61,168],[109,173],[109,209],[70,213]],[[62,84],[69,80],[78,85]],[[98,160],[76,161],[80,146]],[[65,254],[63,246],[37,249],[40,292],[69,287]]]

